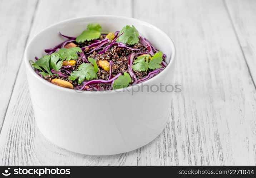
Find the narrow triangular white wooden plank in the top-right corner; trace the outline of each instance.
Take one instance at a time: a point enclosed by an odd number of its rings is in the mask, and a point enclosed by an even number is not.
[[[226,0],[228,14],[247,61],[254,83],[256,82],[256,1]]]

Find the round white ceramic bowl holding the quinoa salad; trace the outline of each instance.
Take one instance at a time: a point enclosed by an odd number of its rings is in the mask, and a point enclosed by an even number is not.
[[[43,49],[66,40],[59,32],[78,36],[88,23],[99,23],[102,31],[134,25],[157,49],[167,55],[168,66],[143,85],[172,84],[175,48],[159,28],[141,20],[120,16],[87,16],[56,23],[36,35],[25,50],[25,65],[36,124],[43,135],[67,150],[88,155],[113,155],[132,151],[156,138],[171,112],[171,93],[138,91],[142,83],[116,91],[78,93],[40,78],[29,60],[41,57]],[[144,86],[145,87],[145,86]],[[156,90],[156,87],[152,88]]]

